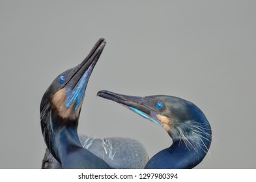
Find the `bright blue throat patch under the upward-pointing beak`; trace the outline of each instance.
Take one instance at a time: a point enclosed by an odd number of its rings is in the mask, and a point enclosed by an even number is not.
[[[92,69],[93,67],[89,66],[74,89],[66,89],[66,109],[76,102],[75,110],[78,110],[79,105],[81,105],[81,101],[83,101],[83,97],[85,96],[86,86],[92,73]]]

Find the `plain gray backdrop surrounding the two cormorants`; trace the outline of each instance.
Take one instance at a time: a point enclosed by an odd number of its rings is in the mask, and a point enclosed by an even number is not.
[[[125,136],[150,157],[167,133],[98,90],[165,94],[199,106],[214,140],[197,168],[256,167],[255,1],[0,1],[0,168],[40,168],[39,105],[55,77],[107,45],[79,133]]]

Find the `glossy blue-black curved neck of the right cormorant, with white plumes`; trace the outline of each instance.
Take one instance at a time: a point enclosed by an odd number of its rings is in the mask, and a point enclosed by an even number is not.
[[[197,166],[204,159],[212,141],[210,125],[207,123],[203,127],[194,126],[194,129],[199,130],[190,129],[189,133],[182,133],[184,136],[173,138],[173,144],[156,153],[145,168],[193,168]]]

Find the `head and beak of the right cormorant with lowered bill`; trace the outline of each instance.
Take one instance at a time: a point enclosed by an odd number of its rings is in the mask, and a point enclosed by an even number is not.
[[[97,95],[121,103],[151,122],[161,125],[173,138],[173,142],[183,141],[190,146],[193,141],[203,140],[206,145],[204,148],[208,151],[212,139],[210,124],[203,112],[190,101],[173,96],[125,96],[107,90],[101,90]]]

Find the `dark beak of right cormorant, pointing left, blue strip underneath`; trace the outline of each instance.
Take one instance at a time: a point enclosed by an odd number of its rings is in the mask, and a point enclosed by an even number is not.
[[[125,96],[125,95],[109,92],[107,90],[100,90],[97,96],[120,103],[124,107],[143,116],[143,118],[146,118],[147,120],[150,120],[151,122],[154,122],[158,125],[163,125],[161,121],[158,120],[158,116],[160,116],[161,114],[158,113],[155,109],[153,109],[149,105],[147,105],[147,103],[144,101],[144,98],[135,97],[135,96]]]

